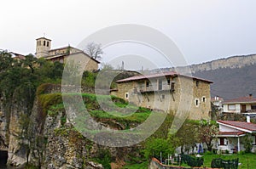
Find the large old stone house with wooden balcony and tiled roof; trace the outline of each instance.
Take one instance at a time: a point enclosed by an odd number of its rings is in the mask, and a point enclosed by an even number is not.
[[[211,83],[206,79],[168,71],[119,80],[117,89],[111,94],[138,106],[174,113],[189,106],[189,119],[201,120],[210,118]]]

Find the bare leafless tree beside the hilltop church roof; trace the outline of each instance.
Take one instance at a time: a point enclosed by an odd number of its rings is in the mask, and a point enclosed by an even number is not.
[[[86,48],[84,49],[84,52],[93,59],[102,59],[102,44],[90,42],[87,44]]]

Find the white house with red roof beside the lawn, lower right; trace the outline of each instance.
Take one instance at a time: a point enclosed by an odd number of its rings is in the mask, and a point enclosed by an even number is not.
[[[256,124],[241,121],[217,121],[219,125],[218,142],[215,148],[228,150],[230,153],[244,150],[246,134],[253,140],[253,149],[256,151]]]

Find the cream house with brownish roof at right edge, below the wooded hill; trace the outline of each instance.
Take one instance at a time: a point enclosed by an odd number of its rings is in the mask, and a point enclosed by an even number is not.
[[[256,99],[250,94],[247,97],[230,99],[223,103],[224,113],[256,114]]]

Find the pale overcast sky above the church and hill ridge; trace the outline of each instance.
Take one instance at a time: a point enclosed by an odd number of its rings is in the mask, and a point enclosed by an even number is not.
[[[52,48],[76,47],[85,37],[108,26],[136,24],[164,33],[192,65],[256,54],[255,7],[254,0],[4,0],[0,49],[34,54],[38,37],[51,39]],[[108,62],[110,55],[122,48],[104,50],[102,62]],[[143,57],[154,54],[151,49],[142,53]],[[168,66],[165,63],[161,60],[159,64]]]

